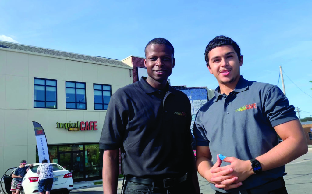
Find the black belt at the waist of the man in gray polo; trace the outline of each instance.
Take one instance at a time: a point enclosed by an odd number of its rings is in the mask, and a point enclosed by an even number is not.
[[[265,183],[258,187],[254,187],[254,188],[242,190],[242,191],[232,191],[232,192],[229,192],[229,194],[266,194],[266,193],[270,194],[270,193],[274,193],[272,191],[280,189],[280,188],[284,188],[284,187],[285,187],[285,181],[283,177],[280,177],[278,179],[275,179],[274,181]],[[216,191],[216,193],[222,193],[222,192]]]

